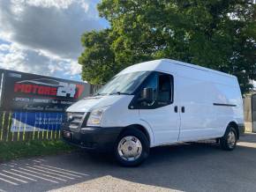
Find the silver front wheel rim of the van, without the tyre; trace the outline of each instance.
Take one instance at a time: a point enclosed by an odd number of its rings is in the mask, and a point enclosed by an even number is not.
[[[142,152],[142,144],[137,137],[126,136],[118,143],[118,154],[126,161],[139,159]]]

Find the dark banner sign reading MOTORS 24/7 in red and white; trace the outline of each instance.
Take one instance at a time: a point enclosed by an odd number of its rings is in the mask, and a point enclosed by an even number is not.
[[[4,110],[64,112],[90,92],[90,85],[84,82],[2,71],[1,108]]]

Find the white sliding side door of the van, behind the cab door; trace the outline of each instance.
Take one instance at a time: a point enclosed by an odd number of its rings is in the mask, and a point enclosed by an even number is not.
[[[214,86],[196,78],[177,77],[177,94],[181,113],[179,141],[204,139],[220,135],[215,124],[216,112],[213,106]]]

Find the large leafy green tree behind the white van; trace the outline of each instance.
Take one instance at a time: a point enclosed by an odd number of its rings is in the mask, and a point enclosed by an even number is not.
[[[82,77],[103,84],[134,63],[171,58],[256,80],[256,6],[250,0],[102,0],[109,29],[85,33]],[[97,70],[97,71],[94,71]]]

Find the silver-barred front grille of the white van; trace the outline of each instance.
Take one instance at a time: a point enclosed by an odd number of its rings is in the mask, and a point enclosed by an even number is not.
[[[80,125],[84,121],[85,113],[68,113],[67,120],[69,128],[73,131],[79,131]]]

